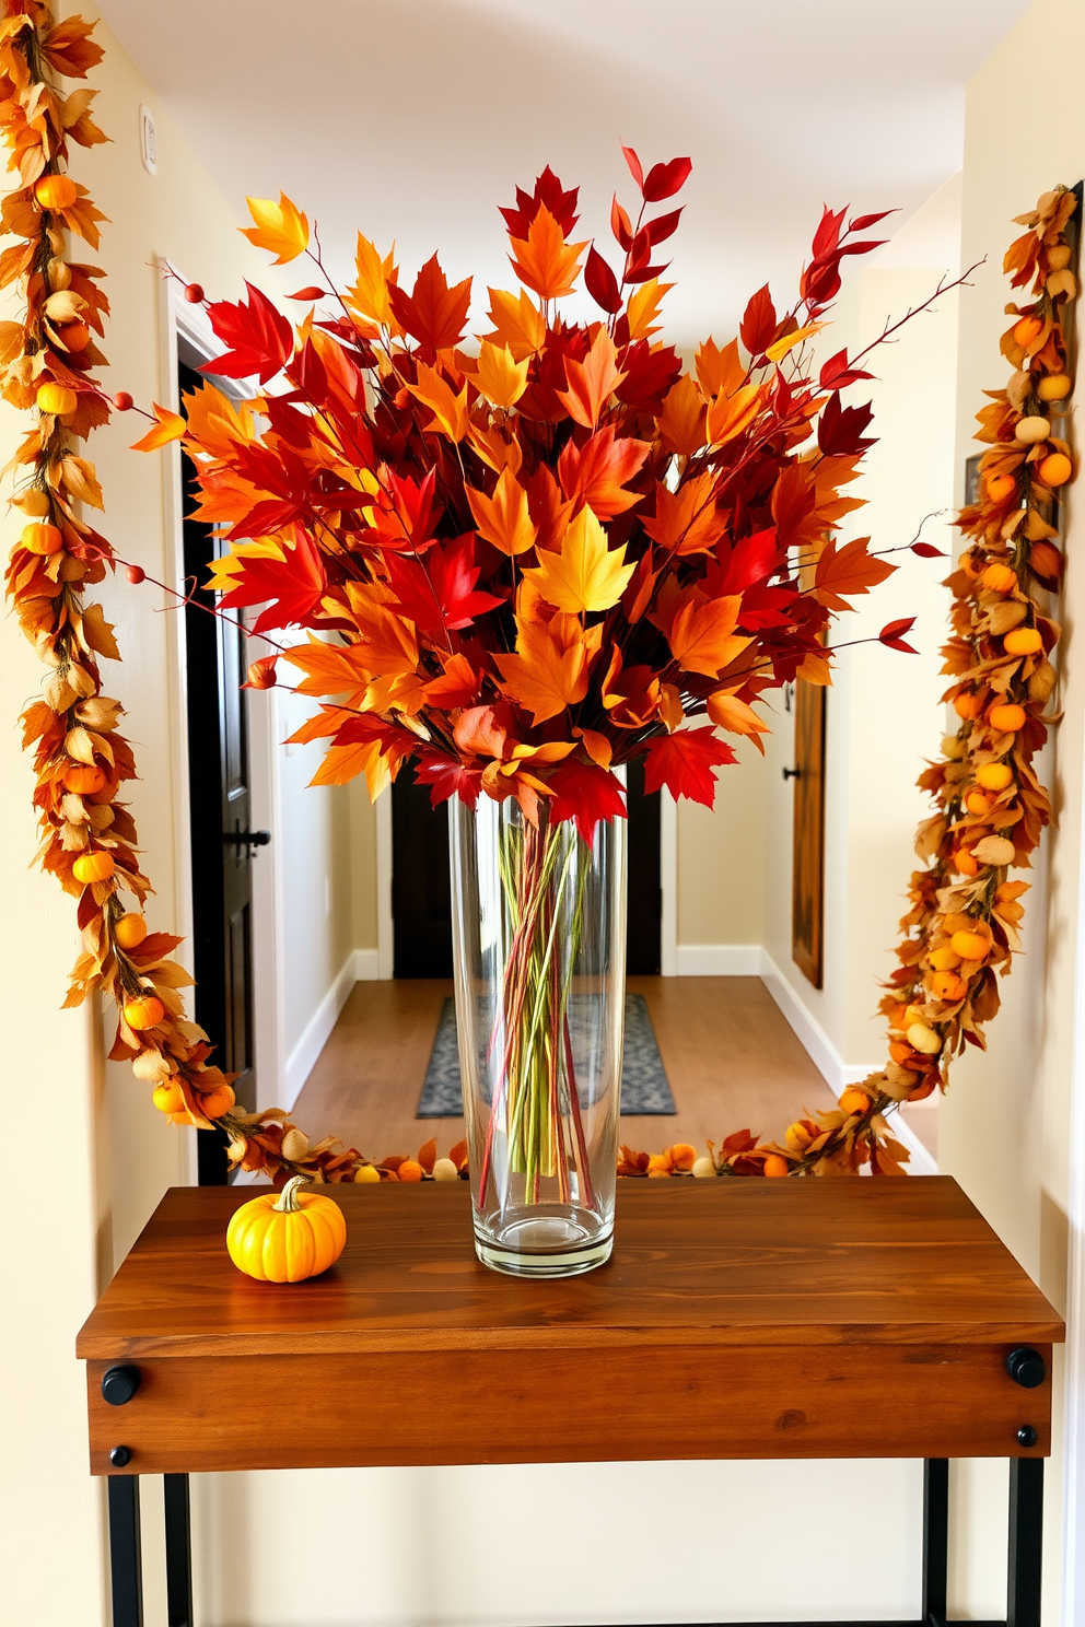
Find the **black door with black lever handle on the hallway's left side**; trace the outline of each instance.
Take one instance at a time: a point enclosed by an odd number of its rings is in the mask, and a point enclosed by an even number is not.
[[[181,387],[200,384],[181,366]],[[220,552],[215,530],[197,517],[197,483],[182,454],[184,569],[194,604],[185,607],[189,683],[189,800],[192,818],[192,916],[195,1020],[215,1045],[215,1061],[236,1074],[234,1092],[255,1110],[252,1043],[252,802],[246,638],[226,618],[208,615],[203,587]],[[260,831],[267,840],[267,833]],[[223,1137],[198,1132],[200,1183],[226,1180]]]

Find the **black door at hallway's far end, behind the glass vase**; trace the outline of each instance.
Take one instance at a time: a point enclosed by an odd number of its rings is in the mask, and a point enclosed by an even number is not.
[[[659,807],[659,792],[644,796],[644,765],[630,763],[626,971],[649,976],[660,966]],[[449,814],[429,805],[410,765],[392,786],[392,921],[395,978],[452,976]]]

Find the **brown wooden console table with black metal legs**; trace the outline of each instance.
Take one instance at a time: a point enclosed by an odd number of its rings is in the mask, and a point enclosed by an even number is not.
[[[340,1263],[252,1282],[223,1243],[252,1196],[169,1191],[78,1337],[114,1627],[143,1616],[140,1474],[190,1627],[190,1472],[647,1458],[924,1458],[909,1627],[947,1620],[948,1459],[1009,1458],[1007,1622],[1039,1627],[1064,1326],[955,1181],[620,1181],[613,1259],[561,1282],[477,1263],[465,1184],[337,1186]]]

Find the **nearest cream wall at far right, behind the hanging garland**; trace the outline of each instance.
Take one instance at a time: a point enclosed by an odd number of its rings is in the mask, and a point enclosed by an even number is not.
[[[1061,101],[1057,129],[1046,122],[1038,127],[1035,140],[1005,138],[1007,109],[1020,109],[1022,96],[1030,99],[1033,89],[1043,99],[1039,86],[1048,81],[1052,60],[1057,60],[1062,83],[1080,85],[1085,73],[1085,10],[1077,0],[1035,0],[968,88],[963,254],[966,260],[986,254],[987,264],[976,272],[976,286],[961,301],[958,477],[965,457],[978,451],[971,439],[973,415],[983,405],[983,390],[997,389],[1007,376],[999,356],[1009,296],[1000,262],[1018,229],[1012,216],[1031,208],[1052,184],[1072,185],[1085,174],[1085,104],[1077,94]],[[1018,127],[1017,117],[1012,127]],[[1080,407],[1077,420],[1080,425]],[[991,1030],[991,1048],[986,1056],[970,1054],[955,1066],[939,1126],[942,1168],[961,1181],[1059,1308],[1067,1305],[1075,978],[1080,973],[1083,542],[1082,498],[1075,490],[1069,501],[1069,569],[1057,612],[1064,626],[1057,704],[1064,708],[1064,718],[1041,765],[1041,778],[1054,789],[1057,828],[1044,840],[1031,877],[1033,892],[1025,898],[1025,955],[1004,984],[1004,1007]],[[1059,1599],[1061,1472],[1056,1429],[1044,1521],[1044,1622],[1052,1627],[1070,1619],[1069,1604]],[[976,1534],[973,1547],[976,1568],[986,1565],[991,1573],[991,1544],[984,1547]],[[978,1611],[994,1607],[983,1596],[973,1596]],[[1082,1609],[1080,1599],[1077,1609]]]

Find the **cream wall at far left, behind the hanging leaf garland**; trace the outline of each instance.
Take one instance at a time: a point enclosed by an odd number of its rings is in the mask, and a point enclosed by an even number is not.
[[[73,8],[75,10],[75,8]],[[93,7],[78,7],[93,15]],[[76,150],[76,176],[111,218],[99,252],[85,257],[107,272],[114,311],[104,345],[112,368],[106,389],[129,389],[138,402],[168,400],[163,290],[153,268],[171,259],[208,290],[233,294],[244,277],[273,291],[267,257],[237,236],[233,210],[195,163],[172,120],[104,24],[98,36],[106,60],[94,72],[96,117],[112,143]],[[158,174],[138,156],[138,109],[145,103],[158,130]],[[5,317],[15,309],[5,309]],[[140,433],[135,417],[117,417],[89,444],[107,498],[102,529],[122,556],[148,574],[169,579],[172,486],[169,457],[142,457],[129,443]],[[0,410],[3,457],[15,449],[20,425]],[[5,548],[15,537],[3,519]],[[184,760],[179,716],[176,612],[158,613],[161,594],[109,582],[99,597],[117,626],[120,667],[106,672],[107,688],[127,706],[142,779],[132,805],[143,838],[146,870],[156,893],[153,927],[172,929],[187,916],[184,838]],[[70,898],[29,861],[37,846],[31,817],[31,766],[20,752],[15,714],[41,687],[42,669],[13,618],[0,618],[0,674],[7,724],[0,799],[0,1022],[5,1033],[3,1123],[10,1137],[7,1184],[20,1212],[34,1212],[26,1248],[5,1250],[5,1363],[0,1406],[5,1482],[0,1508],[0,1620],[5,1627],[60,1627],[106,1620],[101,1485],[86,1474],[85,1381],[75,1362],[75,1334],[96,1293],[124,1256],[163,1189],[187,1178],[189,1147],[150,1103],[130,1069],[104,1064],[94,1012],[60,1012],[67,973],[78,950]],[[280,747],[281,752],[281,747]],[[301,763],[298,763],[301,766]],[[327,866],[340,867],[350,848],[345,792],[309,792],[304,815],[277,836],[301,851],[306,822],[324,827]],[[319,856],[319,843],[314,844]],[[270,851],[270,849],[268,849]],[[267,862],[262,854],[257,862]],[[290,864],[288,864],[290,867]],[[294,931],[298,968],[316,944],[327,965],[342,963],[351,945],[350,888],[338,892],[337,918],[325,924],[324,890],[312,931]],[[319,955],[317,955],[319,958]],[[327,970],[327,968],[322,968]],[[288,979],[290,981],[290,979]],[[320,989],[320,994],[324,989]],[[294,1012],[294,1020],[304,1014]],[[49,1189],[42,1199],[42,1183]],[[15,1310],[13,1310],[15,1306]],[[146,1487],[148,1622],[164,1620],[161,1601],[159,1497]]]

